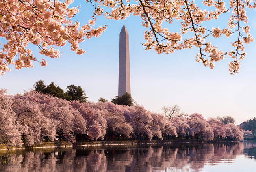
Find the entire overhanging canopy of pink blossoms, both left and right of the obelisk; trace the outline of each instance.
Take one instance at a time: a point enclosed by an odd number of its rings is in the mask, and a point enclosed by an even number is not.
[[[85,51],[79,48],[84,38],[99,37],[107,26],[93,28],[96,16],[105,15],[107,19],[126,19],[131,14],[140,16],[145,26],[146,50],[154,49],[158,54],[174,53],[176,50],[196,47],[196,61],[214,68],[215,62],[230,56],[230,74],[238,73],[240,60],[246,56],[245,46],[254,41],[247,24],[247,9],[256,9],[255,0],[86,0],[95,8],[92,19],[84,26],[72,18],[79,12],[79,7],[69,7],[73,0],[9,0],[1,1],[0,37],[6,39],[0,52],[0,75],[9,72],[9,65],[16,69],[32,68],[34,61],[46,66],[45,59],[35,58],[29,44],[37,45],[39,53],[51,58],[59,58],[60,52],[55,47],[62,47],[67,42],[77,54]],[[202,4],[200,3],[202,2]],[[106,7],[105,9],[102,6]],[[225,13],[225,15],[223,15]],[[230,16],[227,24],[208,28],[209,21],[215,25],[215,19]],[[178,21],[179,20],[179,21]],[[180,32],[167,25],[180,23]],[[211,26],[210,26],[211,27]],[[221,50],[209,39],[234,36],[232,49]],[[183,37],[184,36],[184,37]]]

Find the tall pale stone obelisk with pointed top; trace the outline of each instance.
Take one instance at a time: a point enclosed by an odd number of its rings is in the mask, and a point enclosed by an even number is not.
[[[129,54],[129,34],[125,25],[123,26],[119,37],[119,80],[118,96],[124,93],[131,93],[130,84],[130,54]]]

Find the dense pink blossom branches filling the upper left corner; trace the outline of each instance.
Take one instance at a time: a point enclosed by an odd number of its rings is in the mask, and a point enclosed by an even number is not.
[[[33,67],[33,61],[39,61],[28,44],[39,47],[42,55],[59,58],[60,52],[55,47],[62,47],[67,42],[77,54],[85,51],[79,48],[84,38],[99,37],[106,26],[92,28],[96,18],[80,27],[79,22],[71,19],[79,12],[78,8],[69,8],[73,0],[0,0],[0,37],[7,40],[0,52],[0,76],[9,72],[8,67],[16,69]],[[39,61],[46,66],[45,60]]]

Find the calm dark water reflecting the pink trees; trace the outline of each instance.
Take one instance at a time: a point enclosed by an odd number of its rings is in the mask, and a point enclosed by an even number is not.
[[[0,151],[1,172],[256,172],[256,142]]]

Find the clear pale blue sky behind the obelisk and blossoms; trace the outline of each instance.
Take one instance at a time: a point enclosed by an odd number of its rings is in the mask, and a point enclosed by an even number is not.
[[[81,25],[91,19],[93,11],[91,5],[82,2],[80,13],[74,19]],[[247,14],[251,33],[256,38],[256,12],[251,10]],[[226,21],[214,21],[213,26],[226,28]],[[84,55],[72,52],[67,44],[60,48],[61,58],[51,59],[39,54],[39,49],[31,45],[35,57],[45,58],[48,66],[41,67],[38,62],[32,69],[16,70],[11,66],[11,72],[0,77],[0,88],[16,94],[33,88],[37,80],[44,80],[46,84],[54,81],[64,90],[70,84],[82,86],[89,101],[100,97],[111,101],[118,94],[119,32],[125,24],[130,39],[131,93],[137,103],[153,112],[161,112],[163,105],[177,104],[188,114],[197,112],[205,118],[233,116],[237,124],[256,117],[256,42],[246,46],[248,55],[242,60],[240,73],[232,76],[228,71],[228,62],[232,60],[229,57],[217,62],[215,69],[209,69],[195,61],[197,48],[169,55],[145,51],[141,45],[145,42],[145,28],[141,26],[140,17],[130,16],[122,21],[98,17],[96,26],[104,24],[108,29],[101,37],[86,39],[80,44],[86,50]],[[169,28],[177,30],[176,25]],[[230,42],[236,39],[221,36],[212,42],[227,51]]]

